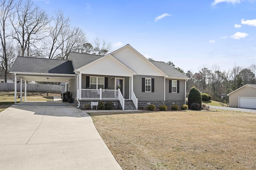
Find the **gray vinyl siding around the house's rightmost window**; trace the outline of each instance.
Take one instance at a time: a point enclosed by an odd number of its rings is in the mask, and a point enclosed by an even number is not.
[[[169,80],[178,80],[178,79],[165,79],[165,100],[185,100],[185,80],[180,81],[180,93],[169,93]]]

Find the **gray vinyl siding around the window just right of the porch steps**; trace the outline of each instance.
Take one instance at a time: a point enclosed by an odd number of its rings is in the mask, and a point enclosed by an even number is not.
[[[154,78],[154,92],[142,92],[142,78]],[[164,100],[164,76],[136,75],[133,90],[138,100]]]

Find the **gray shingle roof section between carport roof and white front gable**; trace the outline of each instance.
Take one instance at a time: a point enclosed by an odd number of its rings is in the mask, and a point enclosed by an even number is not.
[[[81,68],[82,66],[85,66],[103,57],[103,55],[92,55],[74,52],[71,52],[69,56],[72,59],[74,70],[77,70],[78,68]]]

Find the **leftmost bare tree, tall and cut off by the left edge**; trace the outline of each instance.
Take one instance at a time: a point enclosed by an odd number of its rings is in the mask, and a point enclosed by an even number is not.
[[[11,53],[9,53],[8,42],[6,42],[7,38],[7,25],[8,20],[11,17],[12,9],[14,8],[14,1],[13,0],[1,0],[0,1],[0,39],[1,39],[1,66],[4,70],[4,82],[7,82],[7,74],[8,74],[8,62],[10,60]]]

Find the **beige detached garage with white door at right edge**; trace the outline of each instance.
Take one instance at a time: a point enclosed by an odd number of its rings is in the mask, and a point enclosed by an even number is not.
[[[227,94],[230,107],[256,109],[256,84],[246,84]]]

